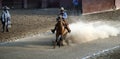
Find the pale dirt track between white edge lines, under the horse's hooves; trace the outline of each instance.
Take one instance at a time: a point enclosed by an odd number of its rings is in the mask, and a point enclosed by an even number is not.
[[[0,44],[0,59],[82,59],[120,44],[120,35],[118,35],[117,37],[53,49],[51,40],[54,38],[50,35],[48,33],[46,36],[35,36]],[[119,59],[119,53],[116,55],[110,55],[111,58],[106,56],[105,59]],[[100,58],[102,59],[101,56]]]

